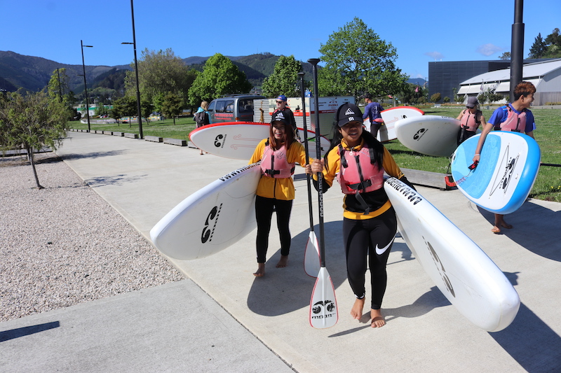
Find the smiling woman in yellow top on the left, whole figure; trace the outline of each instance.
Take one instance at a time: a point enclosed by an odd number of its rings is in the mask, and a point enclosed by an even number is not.
[[[292,174],[295,164],[304,167],[304,146],[294,137],[294,131],[283,111],[273,113],[269,138],[263,139],[255,148],[250,164],[261,161],[262,176],[257,185],[255,218],[257,220],[257,272],[265,274],[266,253],[269,246],[271,217],[276,211],[276,222],[280,235],[280,260],[276,267],[286,267],[290,253],[290,211],[295,198]]]

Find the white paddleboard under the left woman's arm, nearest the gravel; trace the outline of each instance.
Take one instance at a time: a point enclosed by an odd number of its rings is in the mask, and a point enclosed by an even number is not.
[[[150,231],[154,246],[171,258],[205,258],[251,232],[259,162],[241,167],[194,192]]]

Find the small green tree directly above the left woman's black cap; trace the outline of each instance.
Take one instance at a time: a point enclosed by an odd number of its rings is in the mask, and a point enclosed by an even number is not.
[[[294,55],[280,56],[275,64],[273,73],[265,78],[262,91],[266,97],[276,97],[285,94],[288,97],[300,97],[300,80],[298,73],[302,71],[302,63]]]

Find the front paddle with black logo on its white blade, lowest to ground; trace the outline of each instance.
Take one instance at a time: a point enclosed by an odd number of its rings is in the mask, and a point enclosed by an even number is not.
[[[320,146],[320,113],[318,95],[318,62],[320,59],[312,58],[308,60],[313,68],[313,101],[316,111],[316,156],[321,157]],[[305,128],[305,126],[304,126]],[[335,299],[335,289],[331,276],[325,268],[325,239],[323,230],[323,174],[318,173],[318,205],[320,212],[320,270],[316,285],[313,286],[310,301],[310,325],[316,329],[330,328],[337,323],[339,313],[337,312],[337,300]]]

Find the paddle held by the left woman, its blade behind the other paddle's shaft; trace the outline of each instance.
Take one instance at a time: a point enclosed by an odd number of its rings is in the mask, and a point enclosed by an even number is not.
[[[310,163],[308,156],[308,129],[306,128],[306,97],[304,97],[304,73],[298,73],[300,77],[300,94],[302,97],[302,118],[304,119],[304,148],[306,149],[306,164]],[[313,232],[313,211],[311,207],[311,182],[310,176],[306,174],[308,181],[308,206],[310,213],[310,235],[306,242],[304,251],[304,271],[308,276],[316,277],[320,270],[320,245],[316,232]]]

